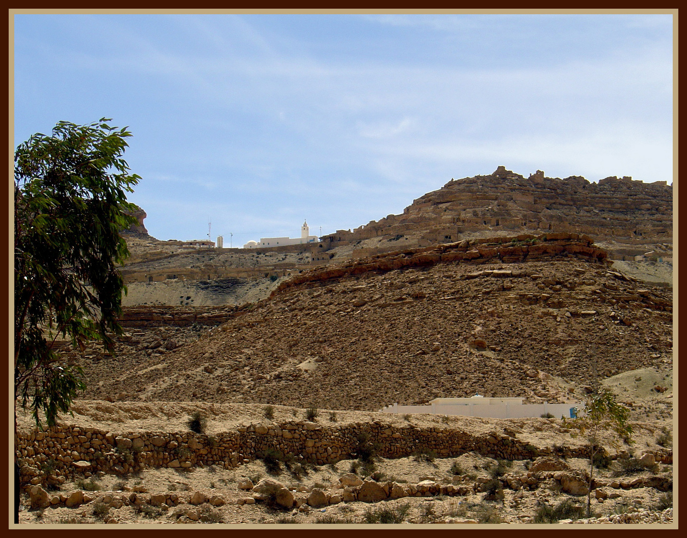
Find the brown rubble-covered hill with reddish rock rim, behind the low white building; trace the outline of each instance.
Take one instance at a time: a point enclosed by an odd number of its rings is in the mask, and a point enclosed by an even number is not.
[[[613,271],[588,239],[471,240],[317,268],[211,330],[141,314],[115,357],[70,357],[90,399],[370,411],[475,392],[562,402],[595,379],[669,370],[670,289]]]

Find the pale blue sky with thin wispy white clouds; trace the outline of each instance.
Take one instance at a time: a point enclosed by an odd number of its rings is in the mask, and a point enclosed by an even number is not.
[[[14,145],[100,117],[161,240],[354,229],[501,165],[670,184],[673,19],[14,15]]]

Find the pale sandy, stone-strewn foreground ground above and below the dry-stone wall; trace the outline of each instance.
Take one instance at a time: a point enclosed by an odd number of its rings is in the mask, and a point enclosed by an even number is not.
[[[629,388],[632,381],[619,379],[616,384]],[[635,402],[651,406],[653,396],[642,392],[635,396]],[[130,434],[184,431],[194,411],[208,417],[206,428],[210,435],[247,424],[278,424],[306,415],[304,409],[273,406],[272,416],[267,419],[264,406],[251,404],[78,401],[73,410],[74,417],[65,415],[60,423]],[[579,439],[570,438],[561,421],[545,418],[444,419],[423,414],[402,417],[319,410],[316,420],[329,426],[381,420],[396,426],[410,423],[438,430],[460,427],[475,435],[503,430],[542,449],[583,444]],[[30,425],[30,416],[20,411],[19,430]],[[584,519],[587,460],[541,456],[506,461],[468,452],[456,458],[417,453],[393,460],[373,455],[367,462],[341,460],[319,466],[307,461],[282,461],[273,467],[262,460],[253,460],[236,469],[199,465],[188,469],[148,468],[124,475],[85,473],[82,478],[41,488],[45,495],[43,504],[38,489],[32,497],[24,495],[20,521],[32,524],[533,524],[559,508],[557,518],[561,523],[671,524],[673,465],[657,463],[644,453],[666,453],[672,430],[662,429],[655,421],[633,423],[633,427],[631,445],[621,443],[611,448],[612,437],[602,434],[602,444],[616,459],[607,460],[594,471],[593,519],[590,520]],[[260,495],[260,484],[269,481],[289,490],[288,502],[274,504],[269,502],[269,497]],[[362,499],[361,488],[373,495],[377,490],[381,494],[383,487],[395,493],[375,503]],[[350,497],[352,491],[357,498]],[[566,501],[570,506],[567,511],[561,511]],[[556,519],[546,521],[555,523]]]

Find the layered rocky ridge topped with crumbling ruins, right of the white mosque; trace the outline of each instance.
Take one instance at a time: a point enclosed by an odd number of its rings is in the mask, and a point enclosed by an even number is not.
[[[575,232],[597,240],[672,241],[673,188],[665,181],[642,183],[607,177],[590,183],[581,176],[529,177],[499,166],[491,175],[449,181],[416,199],[401,215],[372,221],[353,232],[325,236],[330,247],[379,236],[414,234],[449,243],[470,232]],[[642,249],[642,247],[639,247]]]

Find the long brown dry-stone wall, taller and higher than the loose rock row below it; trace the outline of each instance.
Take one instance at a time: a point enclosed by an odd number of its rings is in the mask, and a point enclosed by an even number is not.
[[[475,436],[452,427],[403,427],[382,421],[322,426],[308,421],[249,425],[215,436],[192,431],[113,433],[93,427],[56,426],[32,429],[16,438],[23,483],[27,488],[45,484],[46,474],[58,483],[67,478],[102,471],[135,472],[146,467],[186,468],[198,465],[238,467],[267,449],[291,453],[297,459],[317,464],[357,458],[361,443],[374,447],[384,458],[403,458],[433,451],[449,458],[475,452],[490,458],[532,459],[554,453],[552,447],[534,447],[513,436],[488,432]],[[588,457],[587,447],[556,451],[570,458]],[[672,463],[673,452],[662,449],[655,460]],[[49,473],[47,470],[49,469]]]

